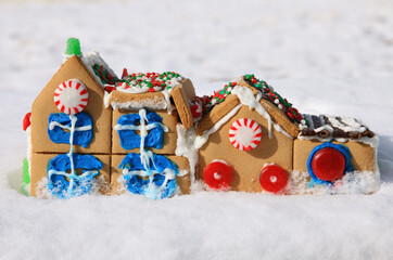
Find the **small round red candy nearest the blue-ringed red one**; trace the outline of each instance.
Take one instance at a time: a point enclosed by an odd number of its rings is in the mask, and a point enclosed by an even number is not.
[[[259,183],[263,190],[277,194],[287,186],[288,176],[281,167],[267,165],[261,171]]]

